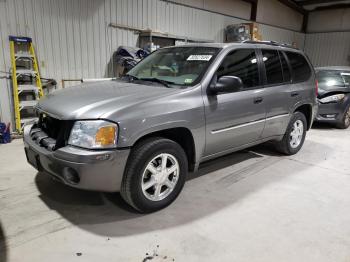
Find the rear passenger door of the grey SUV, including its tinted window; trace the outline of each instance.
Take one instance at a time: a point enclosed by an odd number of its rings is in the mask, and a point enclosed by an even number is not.
[[[262,137],[285,133],[294,103],[291,70],[285,55],[275,49],[261,49],[265,86],[266,123]]]

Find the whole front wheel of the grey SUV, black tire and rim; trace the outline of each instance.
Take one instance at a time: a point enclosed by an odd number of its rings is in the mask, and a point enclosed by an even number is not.
[[[169,173],[171,170],[175,171]],[[180,194],[187,172],[186,153],[179,144],[159,137],[146,139],[131,151],[121,196],[140,213],[160,210]]]

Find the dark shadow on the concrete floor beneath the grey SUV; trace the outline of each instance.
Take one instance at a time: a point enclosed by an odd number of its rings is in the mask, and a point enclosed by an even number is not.
[[[266,146],[261,148],[269,150]],[[206,162],[198,172],[189,175],[188,183],[172,205],[147,215],[134,212],[118,193],[77,190],[42,173],[37,174],[35,182],[41,200],[75,226],[103,236],[127,236],[190,223],[233,205],[266,183],[283,178],[273,174],[269,178],[257,175],[258,171],[281,160],[283,158],[240,151]],[[235,165],[244,167],[239,169]],[[235,184],[248,176],[255,176],[248,187],[242,189]]]

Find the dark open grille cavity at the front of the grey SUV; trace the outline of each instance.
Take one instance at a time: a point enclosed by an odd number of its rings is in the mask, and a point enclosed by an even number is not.
[[[73,124],[70,120],[39,114],[39,121],[33,126],[30,136],[38,145],[54,151],[67,145]]]

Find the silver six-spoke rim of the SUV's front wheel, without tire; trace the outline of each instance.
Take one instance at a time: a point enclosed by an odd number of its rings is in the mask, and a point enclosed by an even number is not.
[[[142,174],[141,187],[144,196],[160,201],[174,190],[179,179],[180,166],[171,154],[162,153],[153,158]]]

